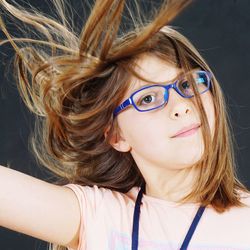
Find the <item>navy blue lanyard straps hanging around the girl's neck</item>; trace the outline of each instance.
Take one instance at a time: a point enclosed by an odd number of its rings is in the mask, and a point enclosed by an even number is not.
[[[137,195],[136,203],[135,203],[135,209],[134,209],[134,218],[133,218],[133,231],[132,231],[132,250],[138,250],[138,232],[139,232],[139,217],[140,217],[140,205],[142,200],[142,195],[145,192],[145,182],[141,186],[141,189]],[[188,244],[193,236],[193,233],[198,225],[198,222],[205,210],[205,207],[200,206],[193,222],[187,232],[187,235],[181,245],[180,250],[186,250],[188,247]]]

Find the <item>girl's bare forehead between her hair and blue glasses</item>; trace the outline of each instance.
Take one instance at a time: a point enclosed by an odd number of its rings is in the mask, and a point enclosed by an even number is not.
[[[180,68],[174,67],[169,62],[153,55],[140,57],[136,61],[135,71],[153,83],[148,83],[133,76],[129,86],[129,94],[145,85],[172,82],[183,72]]]

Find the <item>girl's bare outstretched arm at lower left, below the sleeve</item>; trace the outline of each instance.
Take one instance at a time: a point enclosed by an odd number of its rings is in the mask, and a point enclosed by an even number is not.
[[[76,248],[78,200],[69,188],[0,166],[0,226]]]

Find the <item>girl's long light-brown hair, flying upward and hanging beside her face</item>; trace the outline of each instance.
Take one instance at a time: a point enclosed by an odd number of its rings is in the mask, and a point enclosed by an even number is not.
[[[190,2],[165,1],[147,21],[132,15],[134,29],[118,35],[125,0],[96,1],[80,34],[72,31],[63,0],[53,1],[61,21],[1,1],[9,16],[42,34],[42,39],[12,37],[0,19],[7,36],[1,44],[10,42],[16,51],[20,95],[37,117],[31,139],[33,151],[43,166],[60,177],[58,183],[98,185],[126,193],[144,182],[131,154],[118,152],[109,143],[112,136],[119,135],[113,111],[133,76],[147,81],[134,70],[145,53],[184,71],[200,67],[212,72],[189,40],[169,25]],[[137,10],[139,13],[139,7]],[[203,124],[205,150],[194,166],[200,176],[181,202],[199,199],[222,213],[233,206],[244,206],[240,191],[249,191],[237,177],[235,139],[214,74],[211,91],[217,118],[213,138],[195,90],[193,100]],[[54,245],[54,249],[64,248]]]

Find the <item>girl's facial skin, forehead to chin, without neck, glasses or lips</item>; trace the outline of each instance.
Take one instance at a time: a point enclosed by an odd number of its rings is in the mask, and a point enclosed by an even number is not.
[[[172,83],[180,69],[161,59],[144,55],[138,62],[137,72],[152,81]],[[124,101],[146,82],[136,79],[124,96]],[[210,91],[200,95],[210,129],[214,131],[214,105]],[[177,170],[191,167],[203,153],[201,128],[185,137],[174,137],[180,129],[191,124],[200,124],[193,98],[183,98],[174,89],[169,90],[168,103],[149,112],[138,112],[133,106],[118,114],[120,138],[113,142],[118,151],[132,154],[140,169],[157,167]],[[202,124],[201,124],[202,126]]]

